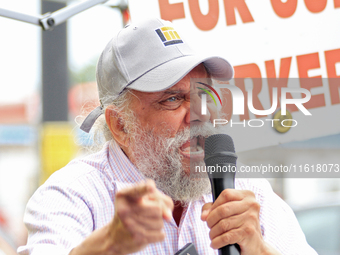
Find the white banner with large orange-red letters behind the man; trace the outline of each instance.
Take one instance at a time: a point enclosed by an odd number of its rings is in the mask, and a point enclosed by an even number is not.
[[[241,123],[228,129],[238,151],[340,133],[340,0],[130,0],[129,8],[132,21],[170,20],[196,51],[233,65],[229,84],[242,90],[245,101],[244,114],[227,119],[229,127],[231,121]],[[277,110],[282,88],[308,90],[311,97],[303,106],[311,116],[287,106],[294,125],[285,129],[266,120],[286,115],[253,114],[249,90],[253,107],[264,110],[271,108],[273,88]],[[230,101],[223,105],[231,106]]]

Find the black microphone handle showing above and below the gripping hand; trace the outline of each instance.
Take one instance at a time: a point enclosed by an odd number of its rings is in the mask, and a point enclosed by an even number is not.
[[[224,165],[224,164],[219,164]],[[230,164],[226,164],[230,165]],[[209,180],[211,183],[211,189],[213,192],[213,200],[217,199],[217,197],[222,193],[225,189],[235,189],[235,173],[234,172],[226,172],[223,173],[223,178],[221,178],[220,173],[217,176],[213,176],[214,173],[209,174]],[[211,178],[212,177],[212,178]],[[217,178],[216,178],[217,177]],[[219,177],[219,178],[218,178]],[[218,249],[219,255],[240,255],[241,249],[238,244],[229,244],[220,249]]]

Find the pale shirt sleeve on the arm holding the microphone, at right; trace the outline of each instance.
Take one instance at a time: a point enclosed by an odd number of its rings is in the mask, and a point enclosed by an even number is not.
[[[277,196],[264,179],[249,181],[261,205],[260,223],[264,240],[282,255],[317,255],[306,241],[293,210]]]

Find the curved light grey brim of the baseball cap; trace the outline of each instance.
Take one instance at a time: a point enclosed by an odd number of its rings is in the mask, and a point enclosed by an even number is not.
[[[143,92],[162,91],[175,85],[201,63],[205,65],[213,79],[228,81],[233,77],[233,68],[224,58],[188,55],[155,67],[127,87]]]

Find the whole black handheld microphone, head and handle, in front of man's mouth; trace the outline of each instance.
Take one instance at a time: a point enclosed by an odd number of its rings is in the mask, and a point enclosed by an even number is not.
[[[225,134],[209,136],[204,143],[205,165],[211,183],[213,201],[225,189],[235,188],[236,159],[233,139]],[[240,255],[238,244],[218,249],[219,255]]]

